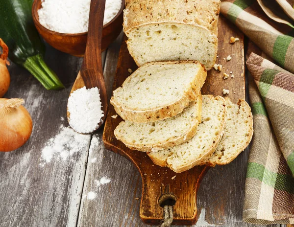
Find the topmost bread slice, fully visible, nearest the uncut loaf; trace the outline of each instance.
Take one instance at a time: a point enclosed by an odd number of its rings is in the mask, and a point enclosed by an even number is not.
[[[163,120],[181,113],[196,100],[206,74],[197,61],[148,63],[113,91],[110,102],[124,120]]]

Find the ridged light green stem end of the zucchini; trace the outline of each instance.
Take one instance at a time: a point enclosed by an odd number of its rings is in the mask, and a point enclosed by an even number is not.
[[[47,89],[59,90],[64,88],[63,84],[43,60],[40,54],[30,56],[25,60],[23,66]]]

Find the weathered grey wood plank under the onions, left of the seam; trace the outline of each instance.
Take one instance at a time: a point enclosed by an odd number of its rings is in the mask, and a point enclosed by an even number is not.
[[[105,53],[104,53],[105,56]],[[41,151],[66,120],[66,105],[81,58],[48,47],[46,62],[66,89],[46,91],[25,69],[9,67],[7,98],[25,99],[33,119],[33,132],[20,149],[0,153],[0,227],[75,226],[91,136],[71,161],[52,160],[43,167]]]

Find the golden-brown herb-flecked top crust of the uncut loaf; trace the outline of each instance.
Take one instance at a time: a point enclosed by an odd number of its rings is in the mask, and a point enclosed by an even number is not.
[[[125,0],[123,31],[148,23],[186,23],[218,34],[220,0]]]

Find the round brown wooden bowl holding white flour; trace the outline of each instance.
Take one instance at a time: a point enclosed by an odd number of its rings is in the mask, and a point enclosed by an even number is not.
[[[41,8],[42,0],[34,0],[32,6],[32,17],[35,26],[44,40],[55,49],[75,56],[83,56],[86,49],[88,32],[67,34],[51,31],[39,22],[38,10]],[[123,8],[109,23],[103,26],[102,30],[102,51],[105,50],[120,34],[123,28]]]

